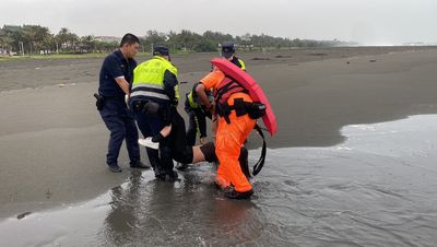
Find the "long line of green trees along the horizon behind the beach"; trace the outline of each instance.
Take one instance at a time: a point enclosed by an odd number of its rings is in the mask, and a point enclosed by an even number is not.
[[[292,48],[292,47],[331,47],[344,46],[347,43],[339,40],[311,40],[272,37],[269,35],[233,36],[220,32],[206,31],[198,34],[188,30],[168,33],[147,31],[144,36],[139,36],[142,51],[147,52],[154,45],[165,45],[173,51],[216,51],[218,44],[234,42],[239,49],[260,48]],[[50,33],[48,27],[40,25],[4,25],[0,28],[0,51],[14,54],[83,54],[108,52],[119,46],[120,38],[96,37],[93,35],[79,36],[67,27],[58,33]]]

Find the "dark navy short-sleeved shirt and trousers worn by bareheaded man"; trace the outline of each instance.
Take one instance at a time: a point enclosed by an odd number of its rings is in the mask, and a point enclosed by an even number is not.
[[[105,105],[99,110],[102,119],[110,131],[106,163],[118,165],[117,158],[123,139],[129,152],[130,164],[140,162],[138,130],[133,115],[125,103],[125,92],[117,84],[116,78],[125,77],[129,83],[133,79],[134,59],[125,59],[120,50],[107,56],[102,64],[98,93],[105,98]]]

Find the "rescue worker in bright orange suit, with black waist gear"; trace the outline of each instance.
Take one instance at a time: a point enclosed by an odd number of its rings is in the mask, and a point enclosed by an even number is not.
[[[200,80],[196,92],[212,113],[212,121],[216,122],[215,154],[220,165],[216,174],[216,184],[232,199],[248,199],[253,190],[238,162],[240,150],[256,125],[250,118],[245,105],[252,99],[247,91],[231,80],[226,83],[226,75],[214,68],[206,77]],[[206,92],[214,92],[214,104],[208,99]],[[238,116],[236,110],[239,110]]]

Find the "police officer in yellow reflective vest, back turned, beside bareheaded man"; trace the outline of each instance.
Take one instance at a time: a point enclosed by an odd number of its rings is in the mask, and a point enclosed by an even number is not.
[[[160,134],[165,126],[170,125],[169,115],[176,111],[179,101],[177,69],[170,62],[168,48],[156,46],[153,55],[152,59],[134,69],[130,93],[130,105],[144,137]],[[149,110],[149,106],[155,104],[158,105],[157,113]],[[160,151],[155,152],[160,152],[160,163],[154,165],[155,177],[170,181],[177,179],[177,173],[173,170],[170,139],[160,141]]]

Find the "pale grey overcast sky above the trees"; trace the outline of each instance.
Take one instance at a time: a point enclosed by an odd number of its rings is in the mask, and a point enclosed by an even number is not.
[[[365,45],[437,43],[437,0],[1,0],[0,25],[80,36],[218,31]]]

